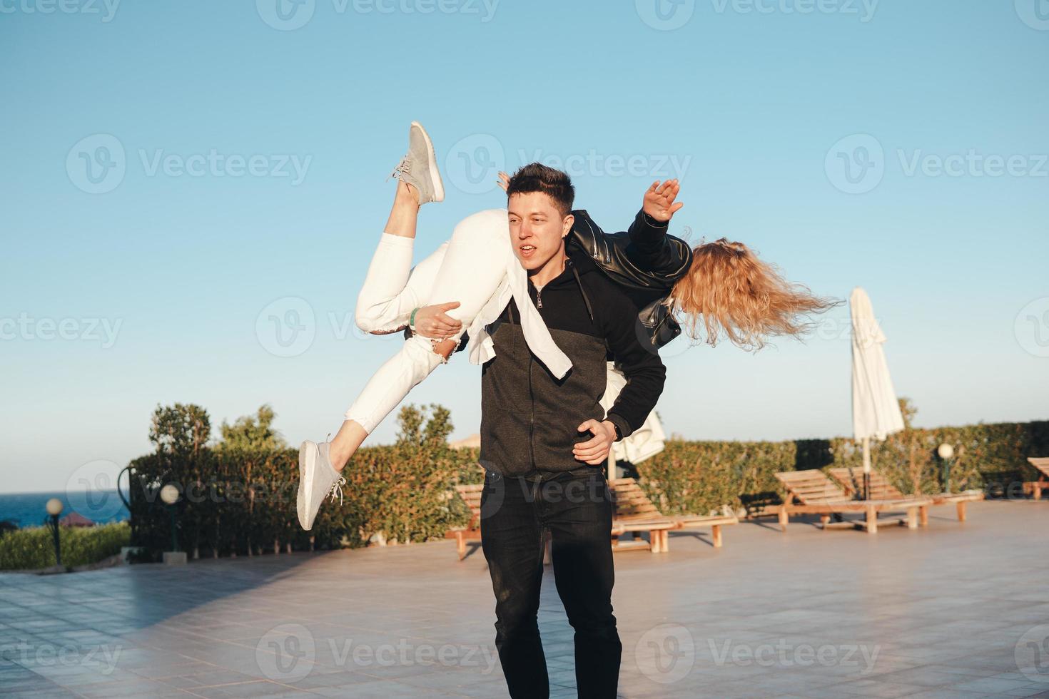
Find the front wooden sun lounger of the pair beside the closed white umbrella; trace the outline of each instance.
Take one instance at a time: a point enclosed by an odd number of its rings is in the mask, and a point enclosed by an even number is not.
[[[784,504],[779,505],[779,526],[787,530],[791,515],[819,515],[823,528],[830,528],[831,515],[840,512],[864,512],[868,533],[878,531],[878,512],[906,510],[905,523],[915,529],[919,523],[919,510],[933,504],[932,498],[886,498],[881,500],[853,500],[835,485],[827,475],[818,468],[810,471],[786,471],[776,474],[776,478],[787,488]],[[797,502],[795,502],[797,501]],[[926,520],[921,517],[921,520]],[[853,526],[857,523],[849,523]]]

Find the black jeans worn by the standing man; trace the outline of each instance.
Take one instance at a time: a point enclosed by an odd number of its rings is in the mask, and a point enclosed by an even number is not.
[[[623,646],[612,614],[612,495],[599,467],[540,480],[488,471],[480,541],[495,592],[495,647],[513,699],[550,696],[537,612],[543,529],[557,592],[575,629],[579,697],[615,699]]]

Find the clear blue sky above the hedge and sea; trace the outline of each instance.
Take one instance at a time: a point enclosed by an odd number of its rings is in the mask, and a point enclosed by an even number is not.
[[[920,424],[1049,417],[1049,3],[659,1],[0,1],[0,490],[115,471],[157,403],[335,432],[399,342],[351,314],[412,119],[448,189],[416,258],[498,168],[560,163],[611,230],[678,176],[673,233],[868,290]],[[667,350],[668,432],[850,431],[844,306]],[[479,370],[409,400],[465,437]]]

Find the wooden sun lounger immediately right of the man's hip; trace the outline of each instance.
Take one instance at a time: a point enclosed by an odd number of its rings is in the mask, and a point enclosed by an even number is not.
[[[710,538],[715,548],[722,547],[722,527],[738,524],[735,512],[725,505],[721,515],[663,515],[648,499],[638,482],[633,478],[613,478],[608,489],[616,501],[616,512],[612,522],[613,550],[627,548],[648,548],[652,553],[669,550],[667,532],[678,529],[699,529],[710,527]],[[625,542],[619,537],[627,531],[647,531],[647,546],[643,541]]]

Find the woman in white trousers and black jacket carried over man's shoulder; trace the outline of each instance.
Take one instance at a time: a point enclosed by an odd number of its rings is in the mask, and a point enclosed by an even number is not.
[[[412,332],[346,411],[335,439],[302,443],[297,504],[305,529],[312,527],[320,502],[335,497],[345,482],[340,472],[367,435],[411,388],[447,362],[466,330],[472,363],[494,356],[485,326],[511,298],[521,312],[533,354],[555,376],[571,368],[528,296],[524,270],[510,247],[506,210],[464,219],[450,240],[411,268],[419,209],[444,199],[432,143],[418,123],[409,129],[408,153],[391,176],[399,179],[397,194],[358,297],[357,324],[374,334],[406,327]],[[505,173],[500,178],[506,189],[510,178]],[[806,326],[798,322],[800,315],[832,305],[785,281],[742,243],[722,239],[691,249],[666,235],[667,223],[683,205],[675,201],[679,191],[676,180],[654,183],[625,233],[603,233],[584,211],[573,212],[571,232],[565,231],[569,243],[592,254],[635,303],[629,312],[638,313],[638,331],[650,340],[652,351],[681,333],[676,315],[685,318],[693,338],[705,331],[706,342],[714,345],[724,331],[733,344],[756,349],[769,335],[801,334]],[[624,381],[611,363],[608,371],[602,400],[606,410]],[[655,421],[654,415],[649,421]],[[658,423],[651,425],[656,430]],[[638,432],[643,439],[644,430]]]

